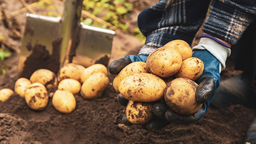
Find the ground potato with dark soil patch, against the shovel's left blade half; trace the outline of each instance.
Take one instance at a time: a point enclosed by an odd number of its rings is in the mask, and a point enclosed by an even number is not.
[[[49,69],[37,69],[30,76],[31,83],[41,83],[47,89],[50,89],[53,86],[57,86],[58,81],[56,75]]]

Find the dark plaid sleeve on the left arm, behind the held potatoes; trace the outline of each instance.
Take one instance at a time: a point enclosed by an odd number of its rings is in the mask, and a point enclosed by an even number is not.
[[[210,0],[162,0],[142,11],[138,27],[146,36],[139,54],[149,55],[174,39],[191,45],[205,18]]]

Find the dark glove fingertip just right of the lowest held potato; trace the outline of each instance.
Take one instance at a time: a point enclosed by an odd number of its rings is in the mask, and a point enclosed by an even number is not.
[[[164,105],[163,103],[156,103],[155,105],[153,105],[152,107],[152,111],[153,113],[162,119],[165,119],[165,113],[166,111],[169,109],[168,106]]]

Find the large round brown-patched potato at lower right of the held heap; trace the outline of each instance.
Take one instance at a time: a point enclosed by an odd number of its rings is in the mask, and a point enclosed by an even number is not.
[[[164,99],[167,106],[182,115],[190,115],[202,107],[196,101],[196,88],[198,84],[187,78],[175,78],[164,90]]]

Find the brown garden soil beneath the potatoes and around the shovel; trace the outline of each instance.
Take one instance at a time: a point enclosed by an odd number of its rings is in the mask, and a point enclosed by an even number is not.
[[[35,1],[26,1],[33,3]],[[135,27],[139,11],[157,1],[133,1],[134,11],[127,19]],[[23,6],[17,0],[0,0],[0,10],[10,14]],[[41,10],[35,10],[37,13]],[[13,20],[0,22],[0,35],[14,47],[20,46],[20,39],[13,34],[20,33],[25,26],[25,13]],[[15,20],[15,25],[13,24]],[[9,27],[6,27],[9,23]],[[200,33],[200,32],[198,32]],[[195,38],[195,44],[198,38]],[[126,54],[137,54],[143,44],[128,32],[116,31],[110,62],[123,58]],[[14,90],[17,80],[19,53],[5,60],[9,65],[7,73],[0,76],[0,89]],[[31,67],[33,68],[33,67]],[[222,79],[237,75],[232,63],[227,62],[227,70]],[[61,114],[52,106],[51,98],[44,110],[31,110],[23,98],[14,93],[5,102],[0,102],[0,143],[243,143],[246,131],[256,110],[241,105],[227,109],[209,108],[207,114],[193,124],[169,124],[162,130],[146,131],[141,125],[126,126],[122,123],[125,107],[116,100],[112,82],[114,75],[108,75],[109,85],[101,98],[85,100],[76,94],[76,109],[70,114]]]

